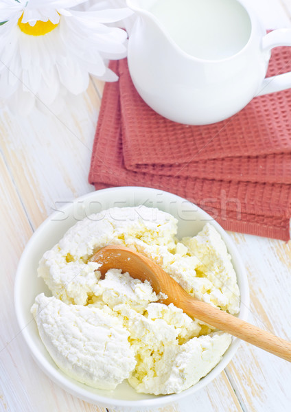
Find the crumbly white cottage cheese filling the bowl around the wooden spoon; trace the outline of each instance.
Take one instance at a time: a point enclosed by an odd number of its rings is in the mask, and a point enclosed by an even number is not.
[[[100,279],[88,262],[106,244],[124,244],[160,264],[188,293],[239,311],[236,275],[219,233],[210,224],[194,238],[176,238],[176,219],[148,207],[112,208],[69,229],[40,260],[53,297],[36,297],[32,312],[41,339],[67,374],[101,389],[122,380],[139,392],[178,393],[220,361],[229,334],[157,303],[148,282],[110,269]]]

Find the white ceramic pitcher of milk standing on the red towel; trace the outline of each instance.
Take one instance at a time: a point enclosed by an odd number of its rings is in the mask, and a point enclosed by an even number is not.
[[[127,4],[138,15],[128,41],[130,76],[160,115],[183,124],[211,124],[257,95],[291,87],[291,72],[265,78],[270,49],[291,46],[291,29],[266,34],[243,1]],[[286,70],[290,67],[291,62]]]

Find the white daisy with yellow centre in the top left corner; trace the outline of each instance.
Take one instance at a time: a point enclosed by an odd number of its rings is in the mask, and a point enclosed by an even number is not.
[[[89,74],[117,80],[104,59],[126,56],[127,34],[112,23],[131,11],[75,10],[85,1],[1,0],[0,98],[10,107],[61,106],[66,91],[87,89]]]

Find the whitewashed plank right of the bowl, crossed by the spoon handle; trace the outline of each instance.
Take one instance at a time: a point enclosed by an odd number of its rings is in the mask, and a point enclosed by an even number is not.
[[[291,340],[291,242],[231,233],[242,254],[251,292],[249,321]],[[231,385],[248,411],[288,411],[290,363],[242,342],[226,368]]]

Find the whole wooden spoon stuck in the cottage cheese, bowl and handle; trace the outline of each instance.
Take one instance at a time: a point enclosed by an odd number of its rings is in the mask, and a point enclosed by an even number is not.
[[[131,277],[140,279],[142,282],[148,280],[156,294],[165,293],[167,295],[165,299],[159,300],[161,303],[166,305],[172,303],[181,308],[189,317],[200,319],[200,321],[209,323],[215,328],[291,362],[290,342],[191,297],[159,265],[141,253],[124,246],[108,245],[97,251],[90,261],[102,265],[98,269],[102,277],[110,268],[117,268],[124,273],[130,273]]]

